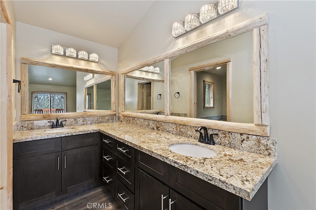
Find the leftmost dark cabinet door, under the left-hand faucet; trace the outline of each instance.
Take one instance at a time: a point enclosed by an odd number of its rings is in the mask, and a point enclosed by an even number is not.
[[[13,208],[23,209],[61,194],[61,152],[13,161]]]

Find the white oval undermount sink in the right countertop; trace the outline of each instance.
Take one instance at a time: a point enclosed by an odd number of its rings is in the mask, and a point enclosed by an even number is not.
[[[214,157],[217,154],[208,148],[190,144],[169,145],[168,148],[176,153],[191,157]]]

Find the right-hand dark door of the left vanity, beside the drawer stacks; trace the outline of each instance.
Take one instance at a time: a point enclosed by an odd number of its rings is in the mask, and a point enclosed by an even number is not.
[[[91,188],[99,182],[98,146],[62,152],[62,193]]]

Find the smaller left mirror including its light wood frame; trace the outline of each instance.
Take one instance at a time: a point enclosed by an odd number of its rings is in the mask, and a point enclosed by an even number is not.
[[[89,74],[93,76],[85,81]],[[99,106],[92,109],[84,107],[87,87],[96,89],[93,90],[94,103]],[[35,101],[34,92],[39,90],[45,97]],[[64,92],[64,96],[62,93],[50,94],[52,91]],[[21,58],[21,96],[22,121],[116,115],[116,72]],[[36,107],[35,102],[41,105]]]

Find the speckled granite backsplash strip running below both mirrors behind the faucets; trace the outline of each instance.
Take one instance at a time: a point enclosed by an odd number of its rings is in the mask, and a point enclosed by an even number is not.
[[[195,126],[181,125],[170,122],[160,122],[155,120],[146,120],[123,116],[104,116],[104,117],[89,117],[89,118],[69,118],[64,126],[90,125],[106,122],[123,122],[141,127],[146,127],[152,130],[159,130],[166,133],[172,133],[190,139],[198,139],[198,133],[195,131]],[[14,131],[47,129],[51,127],[49,120],[34,120],[20,121],[13,125]],[[55,120],[54,120],[55,121]],[[216,133],[214,137],[215,144],[222,145],[237,150],[249,151],[258,154],[263,154],[276,158],[276,139],[270,137],[262,137],[248,135],[242,133],[234,133],[222,130],[208,129],[208,133]]]

